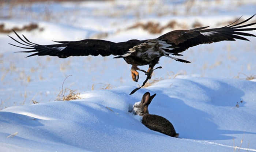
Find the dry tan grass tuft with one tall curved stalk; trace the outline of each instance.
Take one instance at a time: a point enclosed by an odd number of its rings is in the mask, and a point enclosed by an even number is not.
[[[57,95],[57,99],[56,99],[56,100],[59,100],[59,101],[69,101],[69,100],[80,99],[80,93],[75,93],[76,90],[71,90],[71,89],[69,89],[69,88],[65,88],[65,90],[63,90],[64,82],[65,82],[65,80],[66,80],[69,76],[72,76],[72,75],[68,75],[68,76],[64,79],[64,81],[63,81],[63,83],[62,83],[61,91],[60,91],[60,93]],[[69,94],[68,94],[68,95],[65,95],[67,91],[69,91]]]

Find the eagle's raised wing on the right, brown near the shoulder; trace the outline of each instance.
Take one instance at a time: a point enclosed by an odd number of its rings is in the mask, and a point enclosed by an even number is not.
[[[247,22],[248,20],[253,18],[253,16],[251,16],[250,18],[240,23],[234,24],[241,18],[240,17],[235,22],[220,28],[205,29],[209,27],[209,26],[206,26],[206,27],[194,28],[191,30],[174,30],[158,37],[158,39],[167,41],[168,43],[172,43],[173,44],[172,48],[175,48],[175,49],[171,50],[171,53],[174,53],[174,54],[183,52],[189,47],[196,46],[199,44],[204,44],[204,43],[213,43],[213,42],[219,42],[219,41],[236,41],[236,39],[249,41],[248,39],[241,37],[239,35],[252,36],[252,37],[256,37],[256,36],[253,34],[244,33],[240,31],[256,30],[256,28],[242,28],[242,27],[248,27],[248,26],[254,25],[256,24],[256,22],[245,24],[242,26],[238,26],[238,25]]]

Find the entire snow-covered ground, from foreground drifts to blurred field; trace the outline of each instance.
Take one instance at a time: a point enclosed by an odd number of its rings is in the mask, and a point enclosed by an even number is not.
[[[6,29],[31,22],[44,28],[18,32],[39,44],[104,34],[101,39],[114,42],[156,38],[174,29],[192,28],[195,22],[218,27],[256,13],[254,0],[115,0],[0,7],[0,24]],[[11,18],[5,17],[10,14]],[[158,34],[142,28],[127,30],[138,22],[165,26],[172,20],[177,26]],[[16,43],[7,35],[15,37],[0,33],[0,151],[256,151],[256,80],[245,80],[256,75],[255,37],[247,37],[251,42],[192,47],[182,53],[190,64],[162,57],[158,65],[163,69],[156,70],[152,79],[163,80],[129,95],[146,76],[140,73],[139,82],[133,82],[130,65],[123,59],[25,58],[28,54],[14,53],[22,49],[8,45]],[[176,76],[179,73],[183,74]],[[72,76],[64,88],[77,90],[81,99],[54,101],[68,75]],[[101,89],[106,87],[111,90]],[[157,94],[149,113],[172,122],[179,138],[154,132],[128,113],[147,91]]]

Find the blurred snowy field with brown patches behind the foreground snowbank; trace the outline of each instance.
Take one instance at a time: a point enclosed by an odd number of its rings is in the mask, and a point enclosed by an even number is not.
[[[52,44],[86,38],[114,42],[149,39],[176,29],[200,26],[225,26],[241,15],[256,13],[255,0],[1,0],[0,1],[0,108],[42,103],[57,99],[64,88],[77,92],[138,86],[131,80],[130,67],[113,56],[25,58],[7,35],[11,29],[30,41]],[[249,23],[256,22],[256,17]],[[256,31],[250,32],[256,34]],[[248,37],[247,37],[248,38]],[[184,64],[162,57],[154,80],[173,79],[176,75],[253,79],[256,75],[256,38],[199,45],[183,52],[191,61]],[[147,69],[147,66],[140,67]]]

